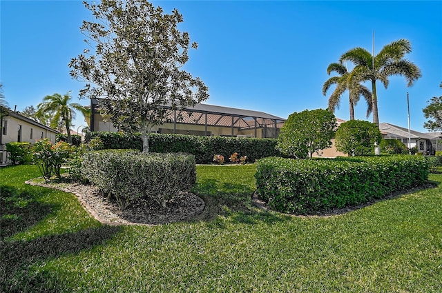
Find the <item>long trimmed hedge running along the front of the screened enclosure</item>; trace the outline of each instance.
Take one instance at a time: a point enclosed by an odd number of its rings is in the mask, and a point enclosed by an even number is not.
[[[86,141],[99,138],[105,149],[142,150],[141,135],[119,132],[88,132]],[[151,134],[150,152],[184,152],[193,154],[196,163],[212,163],[213,156],[220,154],[229,158],[237,152],[238,156],[247,156],[247,163],[267,156],[278,156],[276,139],[255,139],[238,137],[198,137],[185,134]]]

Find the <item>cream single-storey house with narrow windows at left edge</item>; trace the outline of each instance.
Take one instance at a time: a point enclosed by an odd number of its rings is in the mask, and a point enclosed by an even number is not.
[[[46,125],[38,123],[28,117],[24,117],[19,112],[8,111],[8,116],[3,117],[0,135],[0,163],[8,161],[6,143],[28,142],[35,143],[38,139],[50,139],[55,143],[57,130],[53,130]]]

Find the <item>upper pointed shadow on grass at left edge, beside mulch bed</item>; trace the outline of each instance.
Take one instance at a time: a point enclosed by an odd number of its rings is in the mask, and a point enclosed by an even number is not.
[[[35,196],[26,191],[1,185],[0,239],[32,227],[57,208],[57,205],[37,201]]]

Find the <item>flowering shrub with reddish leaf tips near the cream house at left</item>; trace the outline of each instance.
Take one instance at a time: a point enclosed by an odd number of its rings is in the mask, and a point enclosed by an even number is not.
[[[52,174],[60,178],[61,165],[68,161],[71,152],[69,143],[59,141],[52,145],[49,139],[39,139],[34,145],[33,161],[44,179],[49,180]]]

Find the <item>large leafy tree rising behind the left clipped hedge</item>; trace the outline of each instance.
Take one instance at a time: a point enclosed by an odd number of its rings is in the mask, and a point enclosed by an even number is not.
[[[81,26],[93,52],[70,61],[73,78],[86,81],[80,97],[97,98],[116,127],[140,131],[143,152],[155,125],[171,111],[209,98],[208,88],[182,66],[189,60],[189,34],[177,25],[182,15],[164,14],[146,0],[103,0],[86,8],[95,21]]]

